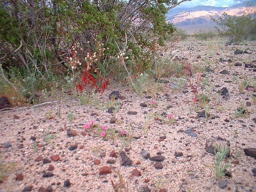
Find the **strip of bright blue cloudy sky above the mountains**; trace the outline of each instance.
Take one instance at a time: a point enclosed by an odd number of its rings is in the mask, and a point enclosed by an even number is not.
[[[239,0],[191,0],[180,4],[180,8],[192,8],[196,6],[215,6],[215,7],[229,7],[240,3]]]

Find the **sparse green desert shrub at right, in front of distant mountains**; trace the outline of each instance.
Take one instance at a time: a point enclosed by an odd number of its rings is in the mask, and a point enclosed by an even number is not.
[[[255,14],[243,14],[242,16],[230,16],[226,13],[218,19],[212,18],[219,27],[216,27],[221,36],[228,36],[231,42],[239,42],[244,39],[255,39],[256,18]]]

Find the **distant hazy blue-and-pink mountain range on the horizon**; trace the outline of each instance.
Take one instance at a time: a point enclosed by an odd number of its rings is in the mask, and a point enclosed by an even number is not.
[[[213,29],[216,26],[211,19],[219,18],[223,13],[231,16],[241,16],[242,14],[256,13],[256,0],[250,1],[250,4],[243,2],[230,7],[197,6],[194,8],[170,9],[166,14],[167,22],[172,22],[175,26],[193,33],[200,29]]]

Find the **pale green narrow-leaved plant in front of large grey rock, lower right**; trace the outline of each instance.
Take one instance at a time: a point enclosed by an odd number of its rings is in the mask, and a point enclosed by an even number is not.
[[[226,146],[224,145],[222,148],[221,145],[218,146],[218,144],[216,144],[216,146],[214,147],[214,154],[215,154],[215,157],[213,158],[214,166],[204,164],[204,166],[206,166],[207,168],[209,168],[214,172],[217,179],[221,178],[228,171],[230,171],[230,170],[227,170],[228,168],[231,167],[230,161],[229,160],[224,161],[225,156],[226,154],[228,154],[228,152],[230,152],[230,147],[226,148]]]

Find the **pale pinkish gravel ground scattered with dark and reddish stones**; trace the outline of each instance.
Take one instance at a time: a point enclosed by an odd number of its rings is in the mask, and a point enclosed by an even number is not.
[[[210,93],[208,105],[211,108],[208,113],[212,119],[198,117],[198,112],[204,108],[199,101],[193,102],[191,86],[172,90],[170,83],[161,84],[162,88],[158,90],[156,98],[146,98],[150,96],[148,92],[138,96],[128,86],[113,81],[101,100],[102,104],[110,102],[108,96],[112,91],[120,93],[118,101],[121,101],[121,108],[112,114],[107,112],[107,108],[101,110],[99,106],[93,105],[93,101],[81,105],[79,100],[69,95],[52,104],[2,111],[1,162],[15,162],[16,166],[6,172],[6,177],[0,183],[0,192],[114,191],[111,180],[118,184],[118,175],[104,166],[118,170],[128,183],[130,192],[159,191],[153,181],[157,180],[156,175],[169,180],[163,183],[165,190],[162,190],[168,192],[256,191],[256,173],[253,172],[256,160],[244,152],[238,162],[231,164],[230,174],[219,180],[203,164],[213,165],[214,155],[206,150],[206,141],[212,137],[220,136],[230,142],[230,159],[236,147],[238,150],[256,148],[256,120],[253,120],[256,117],[256,104],[251,97],[255,90],[247,87],[239,93],[238,89],[244,76],[254,78],[255,83],[254,68],[244,66],[256,64],[256,42],[227,47],[224,45],[223,39],[189,39],[180,42],[172,50],[174,56],[186,58],[182,60],[186,64],[197,66],[198,69],[203,66],[214,70],[209,74],[213,90]],[[247,48],[250,49],[247,50],[248,54],[234,54],[237,49],[245,51]],[[170,57],[170,52],[171,49],[164,55]],[[231,59],[231,62],[220,62],[221,59]],[[236,62],[242,66],[234,66]],[[230,74],[220,74],[222,70],[228,70]],[[198,74],[194,71],[188,77],[190,84],[196,84]],[[169,77],[164,80],[171,81]],[[249,86],[252,86],[250,83]],[[207,87],[210,89],[210,86]],[[225,98],[218,93],[223,87],[228,90]],[[203,92],[201,86],[198,89],[198,94]],[[52,101],[55,100],[52,98]],[[155,104],[151,103],[152,100]],[[141,103],[147,106],[143,107]],[[60,108],[60,117],[57,115],[57,107]],[[244,107],[246,114],[234,118],[233,114],[238,107]],[[67,117],[69,111],[74,112],[72,122]],[[173,115],[175,122],[170,124],[167,116],[163,121],[160,115],[152,115],[163,112]],[[148,121],[147,116],[150,116]],[[116,118],[114,123],[110,123],[112,118]],[[91,121],[94,121],[94,126],[84,128],[84,125],[92,124]],[[44,139],[46,135],[43,128],[48,132],[49,126],[50,134],[56,133],[51,142]],[[104,130],[101,126],[106,126],[108,130],[116,129],[116,137],[102,138],[100,134]],[[122,130],[126,133],[124,138],[121,137]],[[106,136],[109,135],[110,132]],[[124,146],[121,152],[122,144],[128,141],[130,144]],[[111,173],[104,174],[104,171]]]

